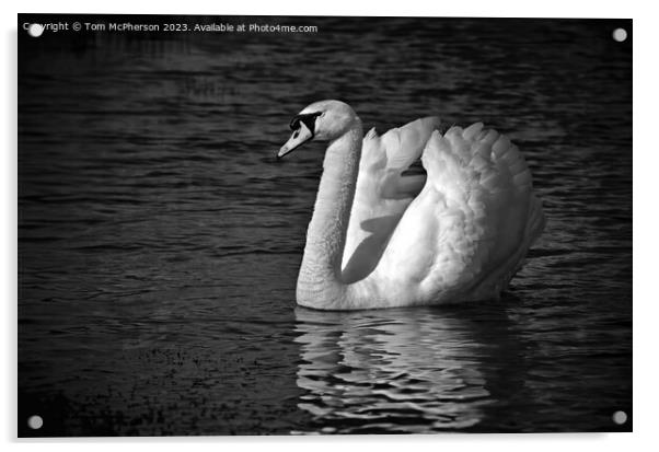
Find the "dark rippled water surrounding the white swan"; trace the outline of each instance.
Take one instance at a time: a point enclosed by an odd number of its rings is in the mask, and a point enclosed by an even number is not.
[[[631,22],[223,21],[319,33],[20,33],[20,434],[631,430]],[[296,308],[324,148],[273,155],[328,97],[510,134],[547,227],[501,301]]]

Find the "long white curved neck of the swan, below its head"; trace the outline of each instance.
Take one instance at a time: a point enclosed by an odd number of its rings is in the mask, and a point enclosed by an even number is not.
[[[316,309],[340,309],[347,286],[340,279],[340,264],[355,197],[362,128],[352,127],[330,143],[323,163],[313,217],[298,277],[298,303]]]

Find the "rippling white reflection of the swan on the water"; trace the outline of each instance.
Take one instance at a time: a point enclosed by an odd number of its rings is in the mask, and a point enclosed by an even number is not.
[[[299,407],[323,432],[427,432],[475,426],[488,391],[476,324],[460,312],[296,310]]]

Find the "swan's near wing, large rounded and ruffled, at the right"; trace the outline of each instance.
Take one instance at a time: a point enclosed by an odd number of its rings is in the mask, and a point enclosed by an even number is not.
[[[544,227],[522,154],[478,123],[433,132],[421,161],[426,185],[363,286],[418,303],[498,297]]]

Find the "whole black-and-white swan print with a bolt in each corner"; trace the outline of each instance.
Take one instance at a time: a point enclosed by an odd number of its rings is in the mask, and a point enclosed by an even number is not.
[[[631,19],[18,21],[19,437],[633,431]]]

